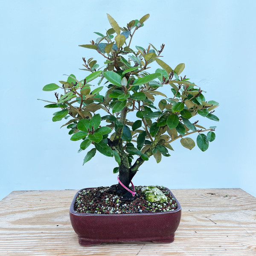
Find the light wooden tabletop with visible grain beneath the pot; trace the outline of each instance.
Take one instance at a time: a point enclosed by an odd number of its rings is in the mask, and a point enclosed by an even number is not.
[[[256,256],[256,198],[242,189],[175,189],[182,206],[172,244],[81,247],[69,220],[75,190],[14,191],[0,201],[1,256]]]

